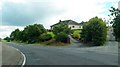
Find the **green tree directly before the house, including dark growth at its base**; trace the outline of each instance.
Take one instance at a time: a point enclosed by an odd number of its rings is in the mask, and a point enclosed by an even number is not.
[[[68,25],[60,23],[58,25],[55,25],[53,28],[53,33],[55,34],[55,40],[57,42],[68,42],[68,35],[71,32],[71,29],[68,28]]]

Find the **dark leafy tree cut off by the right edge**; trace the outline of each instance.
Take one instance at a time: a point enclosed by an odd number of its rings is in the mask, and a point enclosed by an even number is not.
[[[113,17],[111,24],[113,24],[112,27],[113,27],[115,38],[117,41],[120,41],[120,10],[115,9],[114,7],[111,7],[109,11],[111,12],[109,16]]]

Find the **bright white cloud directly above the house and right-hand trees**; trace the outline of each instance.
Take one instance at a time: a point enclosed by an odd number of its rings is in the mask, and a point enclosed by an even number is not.
[[[98,16],[100,18],[108,19],[108,9],[117,3],[115,0],[57,0],[54,1],[56,7],[64,9],[62,14],[47,18],[44,20],[44,25],[48,28],[50,25],[57,23],[60,19],[72,19],[77,22],[88,21],[90,18]]]

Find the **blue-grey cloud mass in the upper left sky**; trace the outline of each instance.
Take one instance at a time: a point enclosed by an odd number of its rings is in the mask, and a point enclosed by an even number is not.
[[[49,2],[4,2],[2,22],[3,25],[24,26],[38,20],[42,21],[51,15],[59,14],[61,11],[55,9]]]

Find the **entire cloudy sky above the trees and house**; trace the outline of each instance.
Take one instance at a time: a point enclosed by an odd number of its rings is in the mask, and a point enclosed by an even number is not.
[[[46,29],[59,20],[78,23],[98,16],[108,19],[111,6],[119,0],[0,0],[0,38],[19,28],[42,24]]]

